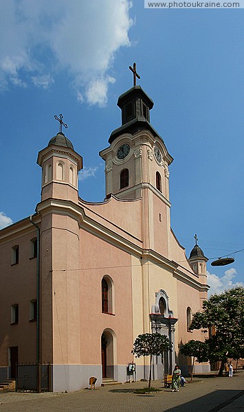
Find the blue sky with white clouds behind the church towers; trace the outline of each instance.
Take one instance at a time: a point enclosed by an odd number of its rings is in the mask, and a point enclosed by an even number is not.
[[[102,201],[98,152],[121,124],[118,96],[139,84],[170,155],[171,225],[208,258],[244,248],[244,10],[149,10],[143,0],[0,0],[0,225],[34,213],[38,151],[58,132],[83,157],[79,194]],[[244,251],[208,262],[211,291],[244,283]]]

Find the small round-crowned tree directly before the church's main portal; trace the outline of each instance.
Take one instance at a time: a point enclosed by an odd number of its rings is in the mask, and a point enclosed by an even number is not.
[[[137,336],[133,344],[133,354],[136,358],[150,356],[150,371],[148,389],[151,387],[151,371],[153,355],[162,355],[163,352],[171,350],[172,343],[168,338],[159,333],[144,333]]]

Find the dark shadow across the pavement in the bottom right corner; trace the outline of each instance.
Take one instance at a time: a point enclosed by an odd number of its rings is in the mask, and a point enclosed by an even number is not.
[[[177,396],[177,393],[173,393],[173,396]],[[198,412],[218,412],[231,405],[234,400],[241,396],[244,396],[244,391],[222,389],[181,404],[178,407],[167,409],[166,412],[189,412],[189,410]],[[230,411],[232,411],[231,406]]]

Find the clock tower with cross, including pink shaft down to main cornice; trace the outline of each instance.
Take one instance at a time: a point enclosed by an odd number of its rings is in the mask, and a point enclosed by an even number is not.
[[[142,199],[144,249],[167,257],[171,236],[168,166],[173,157],[150,123],[153,100],[135,84],[139,76],[135,64],[132,71],[133,87],[118,98],[122,125],[111,133],[110,146],[100,152],[105,161],[106,196]]]

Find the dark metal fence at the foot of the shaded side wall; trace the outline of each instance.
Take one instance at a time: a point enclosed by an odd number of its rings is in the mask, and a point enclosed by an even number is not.
[[[22,363],[16,365],[16,391],[51,391],[51,365]]]

